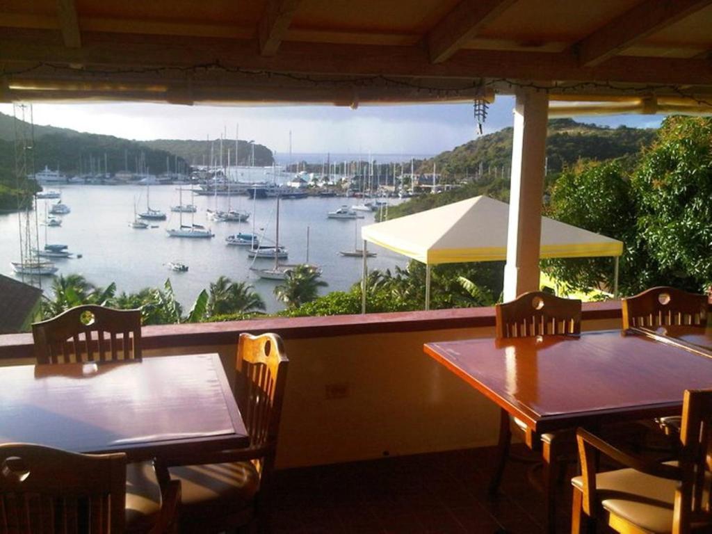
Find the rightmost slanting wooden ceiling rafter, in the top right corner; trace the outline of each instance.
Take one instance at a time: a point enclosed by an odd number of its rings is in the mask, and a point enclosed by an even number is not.
[[[645,0],[576,43],[574,49],[582,66],[596,66],[710,4],[712,0]]]

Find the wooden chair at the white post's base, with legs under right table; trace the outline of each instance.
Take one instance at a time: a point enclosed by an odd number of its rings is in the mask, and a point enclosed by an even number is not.
[[[511,302],[498,304],[495,306],[495,313],[498,340],[538,335],[578,335],[581,332],[581,301],[559,298],[541,291],[523,293]],[[511,424],[512,422],[514,424]],[[512,441],[512,427],[523,434],[523,441],[530,449],[543,447],[547,517],[549,525],[553,525],[553,471],[560,454],[558,441],[555,440],[554,434],[535,434],[523,421],[510,417],[506,409],[500,411],[497,460],[489,491],[495,494],[501,483]]]

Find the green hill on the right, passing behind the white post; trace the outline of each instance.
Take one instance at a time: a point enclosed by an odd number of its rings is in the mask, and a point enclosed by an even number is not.
[[[637,154],[655,137],[656,130],[629,128],[625,126],[609,128],[584,124],[572,119],[549,121],[546,154],[548,172],[560,172],[578,159],[612,159]],[[426,159],[419,172],[436,172],[451,177],[473,176],[480,165],[483,174],[490,169],[508,169],[512,160],[513,128],[508,127],[488,135],[483,135],[454,150],[441,152]]]

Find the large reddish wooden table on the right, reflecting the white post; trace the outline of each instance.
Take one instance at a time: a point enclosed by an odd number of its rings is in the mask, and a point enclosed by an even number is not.
[[[642,331],[433,342],[424,352],[537,434],[679,414],[684,389],[712,387],[711,355]],[[556,441],[543,444],[545,473]],[[553,483],[545,478],[548,530]]]

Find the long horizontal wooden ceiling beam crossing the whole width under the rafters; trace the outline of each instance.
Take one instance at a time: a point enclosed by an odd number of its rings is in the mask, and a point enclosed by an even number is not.
[[[581,67],[575,53],[462,50],[444,63],[431,63],[416,46],[323,45],[286,42],[277,56],[259,56],[253,41],[194,38],[189,42],[145,36],[84,33],[80,49],[32,39],[0,38],[0,62],[11,73],[14,63],[56,63],[122,68],[191,70],[199,78],[219,66],[253,77],[268,73],[408,78],[507,78],[559,82],[646,85],[712,85],[712,64],[703,59],[617,56],[599,66]],[[192,70],[194,68],[194,70]],[[220,67],[215,67],[217,72]],[[287,74],[288,75],[288,74]],[[580,88],[591,92],[592,87]]]

